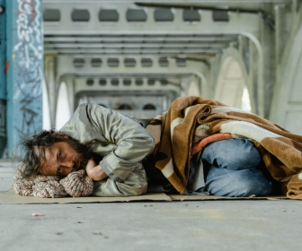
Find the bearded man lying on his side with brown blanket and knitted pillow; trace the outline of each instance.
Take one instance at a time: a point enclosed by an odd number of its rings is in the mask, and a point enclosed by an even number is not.
[[[139,123],[140,122],[140,123]],[[23,139],[18,195],[147,192],[302,199],[302,136],[217,100],[182,97],[147,124],[80,105],[58,132]]]

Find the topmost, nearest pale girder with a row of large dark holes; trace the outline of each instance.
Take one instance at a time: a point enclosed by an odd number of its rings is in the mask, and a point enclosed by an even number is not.
[[[60,19],[58,22],[44,22],[44,34],[240,34],[241,32],[257,33],[259,30],[259,17],[248,13],[229,13],[228,22],[215,22],[211,11],[201,14],[200,22],[184,22],[182,10],[173,9],[172,22],[155,22],[155,8],[143,8],[147,13],[146,22],[128,22],[126,13],[130,8],[138,8],[135,2],[92,2],[84,4],[69,1],[44,1],[44,10],[58,9]],[[98,13],[102,9],[115,9],[119,13],[117,22],[100,22]],[[87,22],[73,22],[71,13],[75,9],[84,9],[89,13]]]

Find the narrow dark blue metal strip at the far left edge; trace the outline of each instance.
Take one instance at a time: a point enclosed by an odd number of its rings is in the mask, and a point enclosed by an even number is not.
[[[4,11],[5,1],[0,0],[0,9]],[[0,158],[3,158],[6,146],[6,77],[5,77],[5,12],[0,13]]]

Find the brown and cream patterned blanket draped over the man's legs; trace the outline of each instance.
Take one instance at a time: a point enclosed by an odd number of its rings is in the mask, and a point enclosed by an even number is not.
[[[271,176],[289,183],[287,195],[302,198],[302,179],[298,176],[302,172],[302,136],[267,119],[216,100],[188,96],[174,100],[166,113],[147,125],[147,130],[155,139],[151,154],[155,167],[180,193],[187,185],[193,143],[223,133],[250,139]]]

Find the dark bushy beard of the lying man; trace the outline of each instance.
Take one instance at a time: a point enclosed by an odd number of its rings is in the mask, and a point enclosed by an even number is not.
[[[68,139],[64,142],[68,143],[69,146],[78,153],[75,162],[80,162],[80,165],[76,165],[75,163],[75,168],[73,171],[84,169],[88,163],[88,160],[93,158],[93,151],[91,151],[91,148],[71,137],[68,137]]]

